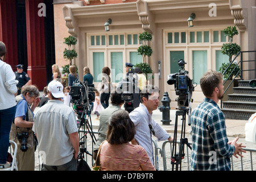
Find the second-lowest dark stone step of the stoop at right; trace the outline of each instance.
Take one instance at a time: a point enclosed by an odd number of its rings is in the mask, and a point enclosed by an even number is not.
[[[256,110],[256,102],[223,101],[223,108]]]

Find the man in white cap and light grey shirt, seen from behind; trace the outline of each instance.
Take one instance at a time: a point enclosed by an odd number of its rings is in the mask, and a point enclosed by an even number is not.
[[[48,84],[50,100],[34,117],[32,130],[38,137],[39,154],[44,171],[76,171],[79,135],[73,109],[61,101],[63,85],[53,80]]]

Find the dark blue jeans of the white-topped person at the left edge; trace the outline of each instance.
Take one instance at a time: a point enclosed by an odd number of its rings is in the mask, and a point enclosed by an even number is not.
[[[7,161],[9,135],[15,112],[16,105],[9,109],[0,110],[0,164],[5,164]]]

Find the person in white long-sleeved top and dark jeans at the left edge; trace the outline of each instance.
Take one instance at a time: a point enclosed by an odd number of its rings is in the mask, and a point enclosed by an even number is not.
[[[11,124],[16,111],[15,96],[17,94],[18,81],[11,66],[5,62],[6,46],[0,41],[0,168],[10,167],[7,162],[7,151],[9,148],[9,134]]]

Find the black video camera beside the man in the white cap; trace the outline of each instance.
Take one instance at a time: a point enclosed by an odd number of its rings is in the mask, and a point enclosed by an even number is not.
[[[81,119],[84,111],[91,111],[90,102],[95,100],[93,91],[96,91],[94,84],[89,85],[87,81],[79,81],[71,86],[69,95],[71,96],[71,102],[75,105],[75,111],[79,119]]]

